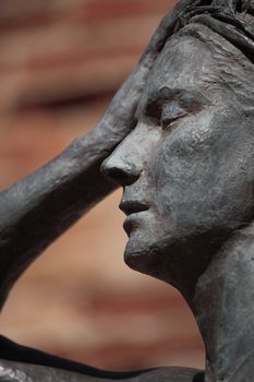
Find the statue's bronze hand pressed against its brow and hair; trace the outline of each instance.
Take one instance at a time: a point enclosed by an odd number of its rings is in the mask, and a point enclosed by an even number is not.
[[[162,19],[138,64],[117,92],[97,127],[88,134],[92,142],[94,142],[96,146],[99,146],[101,160],[112,152],[116,145],[119,144],[133,128],[135,123],[135,110],[150,69],[167,39],[172,35],[181,13],[189,4],[192,4],[192,0],[180,1],[178,5]],[[76,140],[75,144],[80,145],[84,139],[85,138],[81,138]]]

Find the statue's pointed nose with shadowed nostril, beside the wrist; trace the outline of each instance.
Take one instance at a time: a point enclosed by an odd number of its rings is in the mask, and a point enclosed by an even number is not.
[[[130,186],[141,176],[142,166],[129,136],[104,160],[101,172],[119,186]]]

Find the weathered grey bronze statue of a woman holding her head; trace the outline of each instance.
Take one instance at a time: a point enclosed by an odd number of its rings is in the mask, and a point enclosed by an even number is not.
[[[100,371],[2,337],[0,381],[254,380],[253,15],[249,0],[180,1],[100,123],[0,200],[3,303],[50,242],[122,186],[125,262],[181,291],[205,372]]]

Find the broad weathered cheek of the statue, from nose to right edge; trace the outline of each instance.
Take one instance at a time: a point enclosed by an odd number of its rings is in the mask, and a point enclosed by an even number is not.
[[[193,127],[191,127],[193,128]],[[176,225],[235,226],[252,215],[253,153],[250,135],[232,126],[222,129],[195,126],[161,136],[150,168],[154,200],[160,216]]]

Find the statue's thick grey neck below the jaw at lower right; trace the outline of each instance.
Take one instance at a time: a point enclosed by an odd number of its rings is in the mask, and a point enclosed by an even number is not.
[[[206,382],[252,380],[254,356],[253,227],[232,237],[198,278],[189,301],[206,347]],[[247,362],[249,359],[249,362]],[[238,379],[237,379],[238,380]],[[244,380],[244,379],[243,379]],[[245,380],[244,380],[245,381]]]

